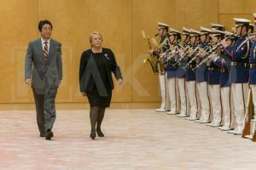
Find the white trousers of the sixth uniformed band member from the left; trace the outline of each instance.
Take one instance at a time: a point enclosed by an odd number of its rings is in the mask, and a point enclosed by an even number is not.
[[[212,104],[212,122],[221,122],[220,86],[208,84]]]

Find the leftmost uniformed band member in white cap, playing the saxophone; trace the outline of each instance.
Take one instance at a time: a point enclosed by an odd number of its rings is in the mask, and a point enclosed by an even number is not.
[[[159,37],[160,37],[160,44],[163,44],[160,48],[159,53],[165,53],[166,50],[168,50],[169,44],[166,41],[168,39],[168,31],[169,31],[169,25],[165,23],[158,22],[158,31],[159,31]],[[168,110],[169,107],[169,96],[166,88],[166,73],[159,74],[159,80],[160,80],[160,94],[161,94],[161,105],[159,109],[155,109],[155,111],[158,112],[165,112]]]

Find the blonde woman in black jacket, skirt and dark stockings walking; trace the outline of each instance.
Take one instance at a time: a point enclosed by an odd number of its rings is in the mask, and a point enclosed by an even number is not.
[[[101,125],[112,96],[111,72],[119,85],[123,83],[123,78],[111,49],[102,48],[102,35],[99,32],[94,31],[90,35],[90,46],[80,59],[79,82],[81,94],[87,96],[90,103],[90,138],[95,139],[96,133],[104,137]]]

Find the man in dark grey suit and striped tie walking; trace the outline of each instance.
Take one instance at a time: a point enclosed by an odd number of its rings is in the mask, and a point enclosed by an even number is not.
[[[51,139],[55,122],[55,96],[62,80],[61,43],[51,36],[52,24],[41,20],[41,37],[29,43],[25,61],[26,84],[32,86],[40,137]]]

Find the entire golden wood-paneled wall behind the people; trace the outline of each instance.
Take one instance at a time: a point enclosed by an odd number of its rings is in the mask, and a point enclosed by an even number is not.
[[[65,108],[84,105],[79,94],[79,59],[90,48],[92,31],[103,35],[103,46],[112,48],[124,76],[113,91],[114,107],[152,107],[160,102],[158,77],[149,65],[141,31],[156,32],[162,21],[180,30],[199,29],[219,22],[233,25],[233,18],[252,19],[255,0],[0,0],[0,105],[31,105],[32,90],[24,83],[28,42],[38,38],[38,21],[53,23],[53,38],[62,43],[64,79],[57,96]],[[0,107],[3,108],[4,107]],[[26,107],[25,107],[26,108]],[[29,108],[29,107],[28,107]]]

